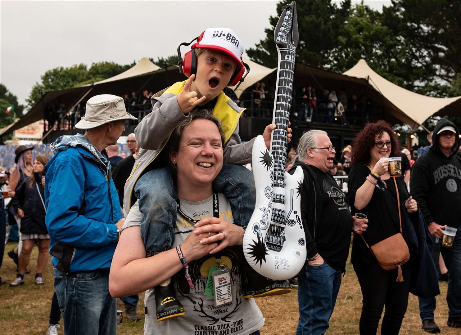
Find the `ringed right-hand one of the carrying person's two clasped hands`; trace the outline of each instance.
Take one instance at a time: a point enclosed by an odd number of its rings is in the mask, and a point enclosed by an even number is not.
[[[221,241],[219,246],[210,251],[210,253],[217,253],[225,247],[242,245],[245,230],[242,227],[224,219],[220,219],[218,217],[206,217],[195,223],[194,234],[209,235],[201,239],[201,244],[207,245],[209,243]]]

